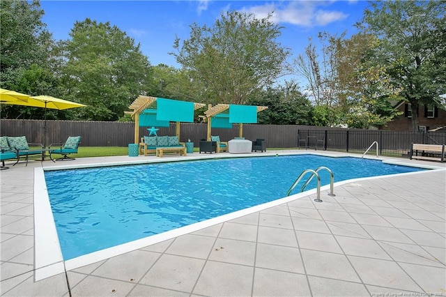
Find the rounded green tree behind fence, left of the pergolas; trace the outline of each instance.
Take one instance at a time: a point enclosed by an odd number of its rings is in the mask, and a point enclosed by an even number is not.
[[[87,107],[77,119],[116,121],[140,94],[151,94],[151,67],[134,40],[109,22],[76,22],[59,43],[66,98]]]

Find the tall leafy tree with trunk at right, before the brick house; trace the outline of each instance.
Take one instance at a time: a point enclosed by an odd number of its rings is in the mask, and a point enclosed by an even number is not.
[[[380,41],[369,66],[383,67],[388,89],[410,103],[417,131],[420,105],[440,105],[446,93],[446,2],[370,1],[370,7],[357,24]]]

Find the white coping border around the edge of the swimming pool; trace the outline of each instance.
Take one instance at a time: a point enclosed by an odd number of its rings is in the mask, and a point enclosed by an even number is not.
[[[175,238],[181,235],[189,234],[193,231],[198,231],[206,227],[213,226],[215,224],[220,224],[228,220],[233,220],[235,218],[240,218],[244,215],[250,213],[255,213],[257,211],[262,211],[266,208],[272,206],[277,206],[284,204],[295,199],[300,199],[301,197],[307,197],[316,193],[316,189],[308,190],[305,192],[300,192],[295,195],[290,195],[289,197],[284,197],[276,199],[274,201],[267,202],[265,204],[259,204],[257,206],[252,206],[250,208],[245,208],[240,211],[235,211],[233,213],[228,213],[226,215],[221,215],[217,218],[212,218],[209,220],[204,220],[202,222],[197,222],[194,224],[187,225],[185,227],[180,227],[178,229],[173,229],[170,231],[163,232],[162,234],[156,234],[153,236],[148,236],[146,238],[138,239],[137,241],[130,241],[129,243],[123,243],[121,245],[116,245],[112,248],[107,248],[104,250],[99,250],[97,252],[92,252],[90,254],[85,254],[74,259],[69,259],[64,261],[61,252],[61,247],[59,244],[59,237],[57,236],[56,225],[54,223],[54,217],[52,214],[51,206],[49,204],[49,197],[47,194],[47,187],[45,183],[45,171],[50,170],[63,170],[63,169],[79,169],[79,168],[91,168],[91,167],[109,167],[109,166],[123,166],[123,165],[139,165],[139,164],[151,164],[159,162],[177,162],[185,160],[208,160],[208,159],[220,159],[220,158],[252,158],[252,157],[268,157],[274,155],[322,155],[331,158],[361,158],[358,155],[332,155],[326,153],[316,153],[316,152],[302,152],[302,153],[275,153],[275,154],[249,154],[249,155],[206,155],[206,158],[163,158],[163,159],[152,159],[152,160],[135,160],[135,161],[122,161],[122,162],[107,162],[107,163],[93,163],[89,165],[63,165],[56,167],[38,167],[34,169],[34,220],[35,220],[35,231],[34,231],[34,261],[35,261],[35,280],[43,280],[47,277],[63,273],[64,271],[70,271],[75,268],[86,266],[88,264],[108,259],[110,257],[117,256],[119,254],[124,254],[126,252],[131,252],[139,248],[144,248],[147,245],[152,245],[154,243],[159,243],[161,241],[166,241],[171,238]],[[204,157],[204,156],[203,156]],[[432,169],[438,171],[446,171],[445,167],[439,167],[435,165],[422,165],[413,164],[408,162],[403,162],[401,160],[386,158],[386,157],[368,157],[369,160],[380,160],[387,164],[402,165],[409,167],[419,167],[425,169]],[[420,174],[423,172],[409,172],[402,174],[391,174],[388,176],[401,176],[409,174]],[[334,183],[334,188],[339,185],[344,185],[346,183],[355,183],[358,181],[371,180],[376,178],[383,178],[384,176],[372,176],[366,178],[353,178],[347,181],[339,181]],[[321,187],[321,192],[329,190],[330,185],[324,185]]]

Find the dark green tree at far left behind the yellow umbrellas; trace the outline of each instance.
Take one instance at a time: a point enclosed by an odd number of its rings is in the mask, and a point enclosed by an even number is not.
[[[59,95],[59,80],[52,71],[54,41],[42,22],[39,1],[0,1],[1,88],[29,95]],[[1,105],[1,115],[12,119],[43,119],[36,107]],[[63,113],[63,112],[62,112]],[[47,113],[49,119],[57,112]]]

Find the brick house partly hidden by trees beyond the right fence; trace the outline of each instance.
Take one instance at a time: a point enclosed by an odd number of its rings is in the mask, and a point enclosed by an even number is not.
[[[403,114],[387,123],[387,127],[384,130],[412,131],[412,109],[410,103],[399,101],[394,105],[394,108],[399,112],[403,112]],[[429,131],[446,126],[446,110],[439,108],[437,105],[420,105],[418,108],[418,127],[420,130]]]

